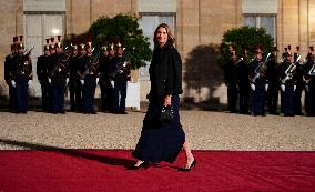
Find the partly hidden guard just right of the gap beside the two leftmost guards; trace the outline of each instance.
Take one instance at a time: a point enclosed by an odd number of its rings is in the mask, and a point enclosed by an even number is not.
[[[45,39],[45,46],[43,48],[44,53],[38,58],[37,62],[37,75],[39,83],[41,84],[41,103],[42,103],[42,110],[45,112],[51,111],[52,107],[52,91],[51,91],[51,85],[49,83],[49,55],[50,55],[50,50],[49,50],[49,39]]]

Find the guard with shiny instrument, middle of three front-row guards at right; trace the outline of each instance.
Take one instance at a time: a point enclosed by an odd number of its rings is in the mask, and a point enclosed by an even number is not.
[[[294,91],[296,89],[296,65],[292,53],[286,53],[286,59],[280,65],[281,90],[283,92],[283,114],[293,117]]]

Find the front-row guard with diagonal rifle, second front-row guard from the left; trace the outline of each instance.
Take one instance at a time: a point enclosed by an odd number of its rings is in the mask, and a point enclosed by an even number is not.
[[[54,44],[55,53],[51,54],[50,78],[52,87],[52,112],[64,114],[65,85],[69,82],[69,57],[62,52],[60,36]]]

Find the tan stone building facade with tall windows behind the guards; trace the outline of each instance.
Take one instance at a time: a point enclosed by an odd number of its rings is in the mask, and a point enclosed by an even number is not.
[[[244,24],[265,27],[282,51],[301,47],[302,55],[315,46],[315,0],[2,0],[0,1],[0,59],[10,53],[12,37],[23,34],[26,47],[42,54],[44,39],[82,33],[99,17],[139,16],[140,27],[152,39],[159,22],[172,26],[184,63],[184,98],[195,102],[219,98],[225,102],[222,71],[215,64],[222,34]],[[149,91],[148,69],[140,71],[141,100]],[[33,93],[38,95],[39,87]],[[7,95],[3,64],[0,94]]]

